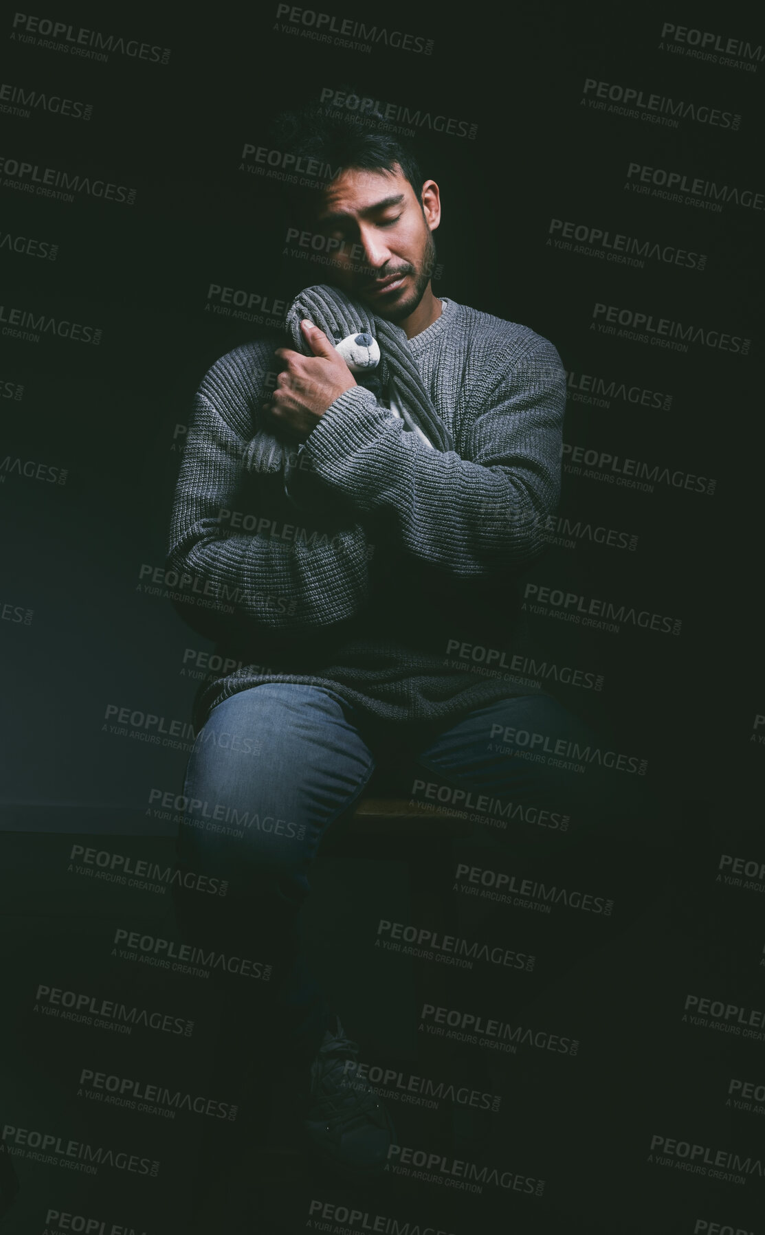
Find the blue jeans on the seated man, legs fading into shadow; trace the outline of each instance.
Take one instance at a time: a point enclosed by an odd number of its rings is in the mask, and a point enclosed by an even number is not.
[[[402,797],[466,809],[488,844],[549,852],[582,832],[644,827],[651,808],[636,761],[582,755],[609,746],[549,695],[405,732],[310,685],[264,683],[219,704],[187,768],[179,858],[189,889],[178,910],[190,942],[251,962],[246,976],[236,962],[224,974],[231,1035],[253,1049],[260,1034],[289,1042],[293,1056],[315,1051],[326,1007],[300,955],[298,914],[323,837],[350,816],[381,753],[399,766]]]

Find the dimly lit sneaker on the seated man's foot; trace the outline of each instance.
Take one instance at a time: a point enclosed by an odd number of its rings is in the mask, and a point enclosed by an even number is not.
[[[391,1116],[366,1081],[349,1076],[346,1063],[358,1046],[340,1020],[324,1034],[310,1066],[309,1109],[303,1128],[310,1149],[326,1165],[352,1177],[378,1174],[395,1140]]]

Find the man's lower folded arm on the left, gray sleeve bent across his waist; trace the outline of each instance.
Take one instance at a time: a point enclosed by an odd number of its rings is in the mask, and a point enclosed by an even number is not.
[[[326,534],[295,526],[285,540],[268,534],[271,519],[260,532],[235,532],[221,520],[221,510],[236,510],[251,445],[229,424],[246,424],[242,409],[237,412],[224,419],[210,398],[197,394],[173,503],[168,569],[185,576],[197,604],[222,613],[234,606],[272,630],[352,616],[368,592],[361,524]]]

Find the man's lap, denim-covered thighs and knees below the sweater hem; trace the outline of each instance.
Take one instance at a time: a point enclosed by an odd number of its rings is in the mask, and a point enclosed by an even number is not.
[[[408,726],[405,750],[394,731],[388,737],[398,795],[489,820],[520,818],[523,804],[524,816],[555,813],[576,824],[634,797],[643,779],[635,761],[607,766],[615,763],[613,741],[546,694],[486,704],[435,736],[433,722],[419,734]],[[339,694],[293,683],[251,687],[210,714],[189,761],[187,794],[214,785],[237,809],[255,802],[279,818],[300,815],[318,840],[363,793],[376,766],[391,766],[386,743],[382,729]],[[546,819],[543,825],[557,826]]]

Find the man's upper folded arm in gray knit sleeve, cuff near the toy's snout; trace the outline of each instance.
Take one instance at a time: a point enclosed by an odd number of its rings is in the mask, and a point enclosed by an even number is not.
[[[566,373],[538,343],[476,391],[486,406],[456,452],[418,443],[362,387],[346,390],[305,442],[318,478],[360,515],[383,513],[404,550],[457,577],[520,568],[544,547],[560,494]]]

